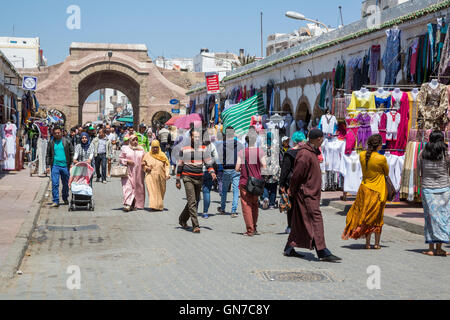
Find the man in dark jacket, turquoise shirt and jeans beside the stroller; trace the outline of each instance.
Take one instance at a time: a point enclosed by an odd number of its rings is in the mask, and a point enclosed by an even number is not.
[[[62,198],[64,204],[69,204],[69,170],[73,158],[72,143],[62,137],[62,130],[59,127],[53,129],[53,140],[48,143],[47,147],[47,174],[50,173],[52,179],[52,197],[53,204],[51,207],[59,207],[59,180],[62,183]]]

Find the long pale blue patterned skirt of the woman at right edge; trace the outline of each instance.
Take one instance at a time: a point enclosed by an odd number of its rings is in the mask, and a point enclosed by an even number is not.
[[[450,188],[422,189],[425,243],[450,243]]]

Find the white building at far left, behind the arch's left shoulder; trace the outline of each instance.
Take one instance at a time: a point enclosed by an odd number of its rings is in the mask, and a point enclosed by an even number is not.
[[[37,68],[47,65],[39,38],[0,37],[0,50],[15,68]]]

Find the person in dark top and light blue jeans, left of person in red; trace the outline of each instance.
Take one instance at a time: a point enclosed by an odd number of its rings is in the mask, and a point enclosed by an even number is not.
[[[219,163],[222,174],[222,193],[220,194],[220,207],[217,211],[220,214],[225,214],[227,194],[230,184],[233,188],[233,201],[231,204],[231,217],[238,217],[237,207],[239,201],[239,181],[241,174],[236,171],[236,164],[238,162],[238,154],[244,149],[244,146],[238,141],[234,128],[228,126],[225,130],[225,139],[221,144],[218,144]]]

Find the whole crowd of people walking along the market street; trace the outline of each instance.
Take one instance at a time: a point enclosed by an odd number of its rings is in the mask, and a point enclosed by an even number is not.
[[[320,210],[322,179],[320,162],[323,133],[312,129],[306,137],[295,132],[292,141],[280,138],[280,147],[261,146],[261,139],[250,127],[245,140],[236,136],[233,127],[224,128],[212,137],[206,128],[174,130],[159,127],[155,131],[140,125],[138,132],[132,127],[94,128],[78,127],[69,135],[54,128],[47,151],[47,164],[51,169],[54,207],[59,206],[59,180],[62,199],[68,202],[67,182],[73,163],[88,162],[95,168],[98,182],[107,182],[111,164],[118,151],[118,161],[126,166],[121,178],[123,210],[142,210],[145,206],[145,188],[148,208],[164,210],[166,182],[176,175],[175,185],[184,185],[187,203],[178,217],[183,229],[200,233],[198,217],[210,217],[211,191],[217,188],[221,205],[217,213],[227,213],[226,203],[232,191],[232,218],[239,217],[238,204],[245,223],[245,236],[258,234],[260,209],[279,208],[286,213],[285,256],[302,256],[295,248],[317,252],[322,261],[337,262],[326,246],[324,223]],[[272,147],[271,147],[272,145]],[[363,179],[350,211],[342,239],[366,239],[366,249],[380,249],[383,215],[387,202],[386,177],[389,167],[386,157],[379,154],[382,138],[372,135],[368,149],[360,153]],[[279,150],[278,150],[279,149]],[[449,243],[450,158],[442,132],[435,131],[420,154],[422,200],[425,215],[425,238],[429,244],[427,255],[448,255],[442,244]],[[274,157],[275,155],[275,157]],[[276,161],[274,161],[274,159]],[[176,168],[176,170],[175,170]],[[279,202],[277,193],[279,192]],[[199,210],[203,198],[203,208]],[[371,235],[375,244],[371,246]]]

